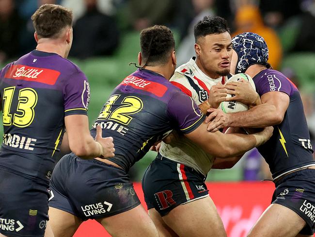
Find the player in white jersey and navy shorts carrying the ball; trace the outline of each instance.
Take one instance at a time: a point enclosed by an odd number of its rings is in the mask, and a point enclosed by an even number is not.
[[[209,102],[218,108],[226,101],[224,82],[231,76],[232,39],[227,22],[221,17],[205,17],[194,26],[194,35],[196,57],[176,68],[170,82],[199,106]],[[250,102],[256,99],[253,91]],[[216,166],[214,160],[214,153],[183,135],[171,144],[161,143],[142,179],[148,213],[161,236],[226,236],[205,185],[208,171]]]

